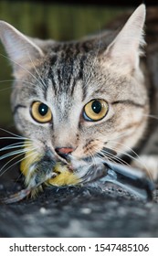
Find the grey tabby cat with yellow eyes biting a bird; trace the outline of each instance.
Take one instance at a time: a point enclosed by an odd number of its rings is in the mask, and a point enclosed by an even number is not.
[[[150,155],[150,145],[158,144],[151,130],[157,92],[144,57],[145,13],[145,5],[138,6],[119,33],[68,42],[26,37],[0,22],[15,78],[16,128],[28,150],[40,155],[40,165],[51,170],[61,162],[81,173],[85,163],[108,158],[157,179],[157,155]],[[32,169],[25,176],[26,187],[39,179]]]

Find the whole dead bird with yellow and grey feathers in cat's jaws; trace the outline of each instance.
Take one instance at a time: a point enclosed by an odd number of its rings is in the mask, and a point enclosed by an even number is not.
[[[108,148],[104,148],[104,150],[109,154],[116,155],[113,150]],[[21,169],[21,172],[26,176],[26,188],[10,197],[3,198],[1,200],[3,203],[14,203],[27,196],[35,197],[38,191],[43,190],[44,186],[68,187],[85,186],[86,184],[93,186],[96,181],[103,189],[106,189],[105,184],[107,187],[112,184],[112,187],[124,189],[136,197],[152,198],[153,184],[136,169],[123,167],[107,160],[101,163],[99,158],[95,165],[92,161],[90,162],[90,158],[81,159],[79,165],[74,168],[72,161],[68,164],[63,161],[54,161],[47,154],[41,158],[39,155],[37,158],[31,158],[32,162],[27,159],[31,156],[27,156],[21,164],[21,168],[25,167],[25,171]]]

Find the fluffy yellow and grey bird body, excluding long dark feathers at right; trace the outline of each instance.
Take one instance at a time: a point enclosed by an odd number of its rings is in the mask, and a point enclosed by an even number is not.
[[[103,150],[107,155],[116,155],[109,148]],[[21,162],[20,171],[25,176],[26,189],[5,198],[5,203],[14,203],[29,195],[35,197],[45,186],[79,186],[106,176],[105,168],[102,169],[102,164],[94,165],[91,156],[77,160],[71,154],[54,155],[48,148],[45,155],[35,152],[32,156],[28,151]]]

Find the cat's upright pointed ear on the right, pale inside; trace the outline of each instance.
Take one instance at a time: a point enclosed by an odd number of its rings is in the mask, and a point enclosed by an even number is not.
[[[130,16],[106,50],[106,57],[124,71],[138,68],[139,57],[142,54],[141,47],[145,44],[143,39],[145,14],[145,5],[142,4]]]

